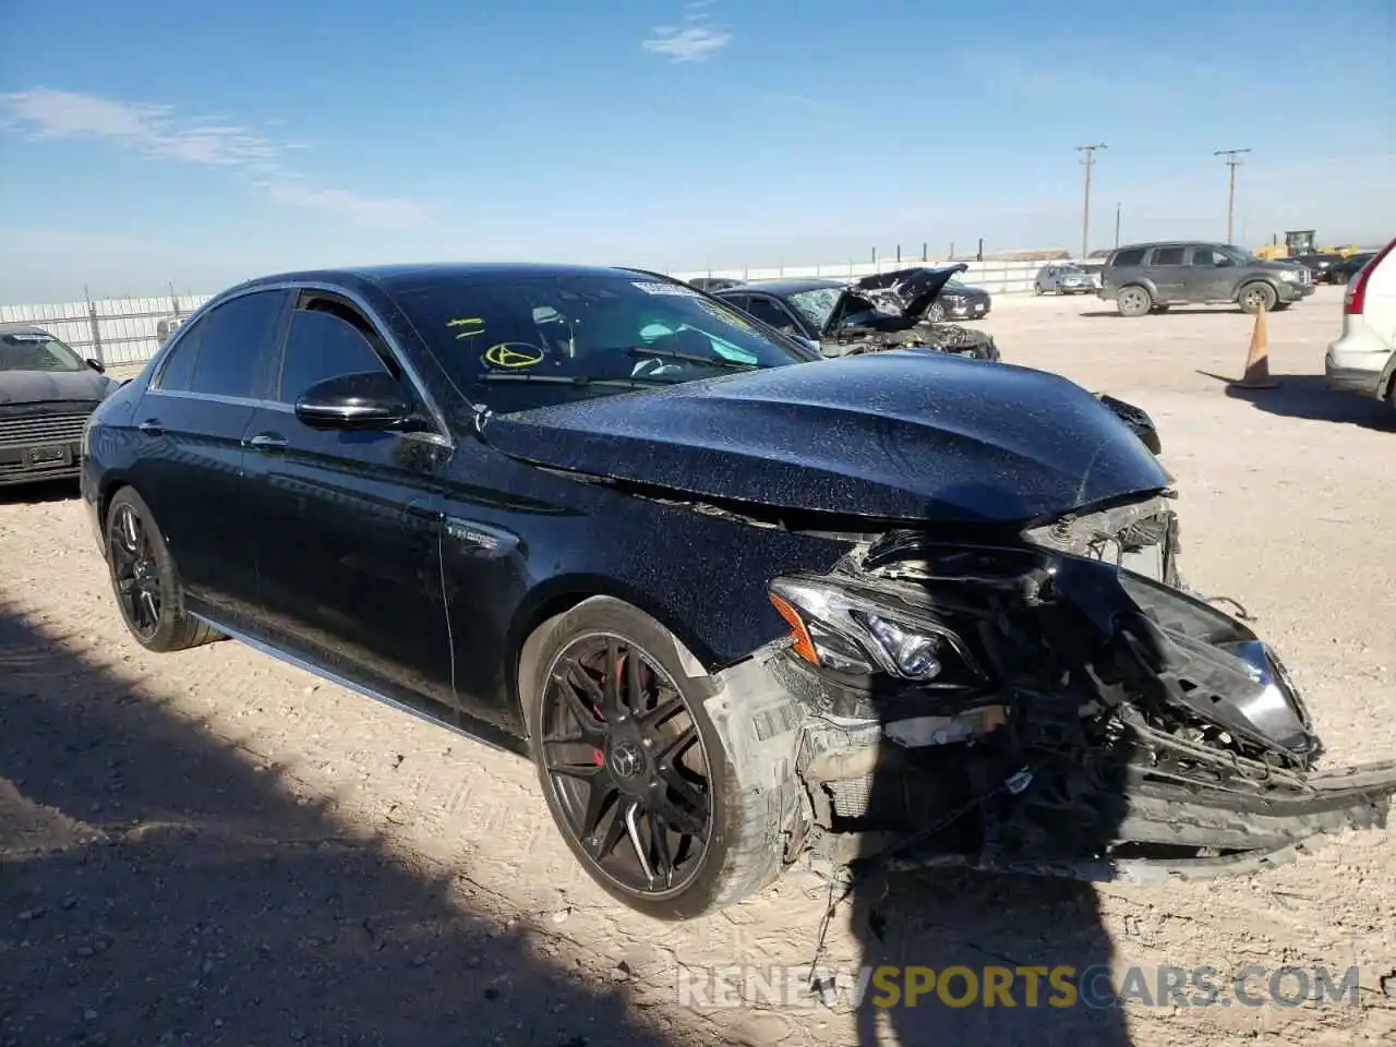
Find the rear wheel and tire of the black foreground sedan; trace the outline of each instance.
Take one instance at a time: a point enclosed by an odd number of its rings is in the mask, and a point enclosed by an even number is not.
[[[107,507],[105,551],[116,604],[137,644],[169,653],[222,639],[184,610],[179,568],[149,505],[134,487],[119,490]]]

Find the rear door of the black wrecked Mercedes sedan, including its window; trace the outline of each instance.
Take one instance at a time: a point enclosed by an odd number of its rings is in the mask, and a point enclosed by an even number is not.
[[[137,406],[131,483],[165,532],[194,610],[251,610],[243,434],[265,395],[288,300],[285,290],[254,290],[198,315]]]

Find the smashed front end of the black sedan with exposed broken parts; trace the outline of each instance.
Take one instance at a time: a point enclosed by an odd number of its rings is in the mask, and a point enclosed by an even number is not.
[[[1171,519],[1156,510],[1122,530]],[[803,711],[803,847],[1189,878],[1385,825],[1396,764],[1315,773],[1322,745],[1275,652],[1166,574],[1121,570],[1103,530],[1022,547],[895,533],[771,584],[790,635],[748,664]]]

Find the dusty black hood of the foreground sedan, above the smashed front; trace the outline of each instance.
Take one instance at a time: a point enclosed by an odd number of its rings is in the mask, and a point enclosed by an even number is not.
[[[906,522],[1040,521],[1167,476],[1046,371],[900,349],[493,416],[514,458],[692,498]]]

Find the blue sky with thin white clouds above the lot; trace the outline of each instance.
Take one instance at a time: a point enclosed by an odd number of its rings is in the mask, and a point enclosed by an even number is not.
[[[0,302],[1396,235],[1396,3],[0,0]]]

